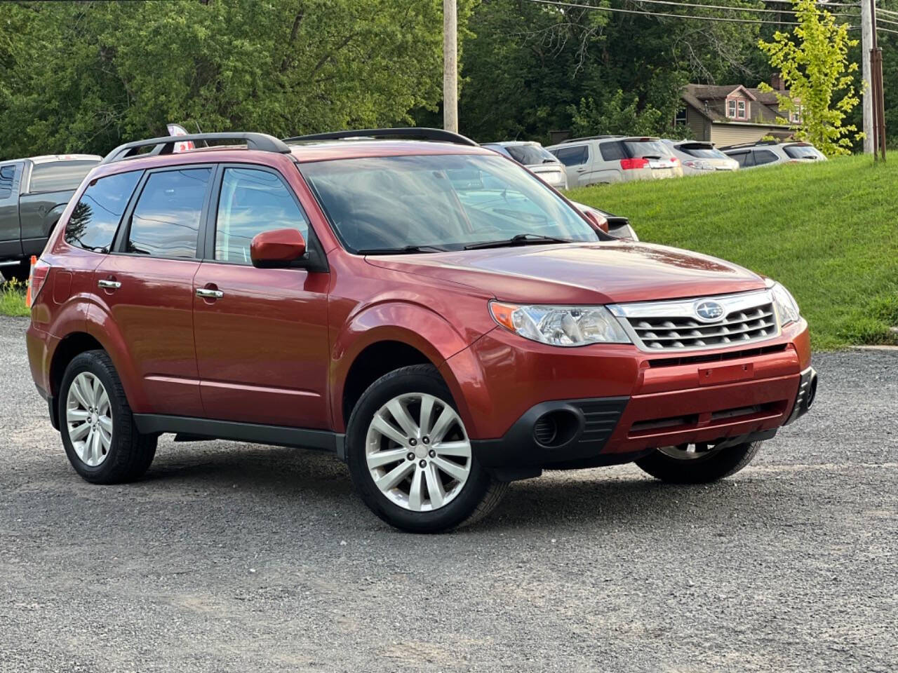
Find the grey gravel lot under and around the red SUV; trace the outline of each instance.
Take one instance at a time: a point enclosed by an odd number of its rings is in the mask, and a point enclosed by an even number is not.
[[[898,670],[898,353],[819,354],[820,396],[712,486],[547,473],[441,537],[336,459],[163,439],[69,468],[0,319],[2,671]]]

